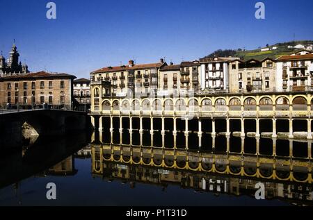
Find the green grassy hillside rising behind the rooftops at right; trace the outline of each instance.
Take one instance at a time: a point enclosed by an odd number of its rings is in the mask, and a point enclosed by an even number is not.
[[[312,40],[302,40],[302,41],[295,41],[295,42],[284,42],[284,43],[278,43],[274,45],[268,45],[264,46],[262,48],[273,48],[273,46],[277,46],[278,49],[271,50],[271,51],[261,51],[261,48],[255,49],[255,50],[242,50],[242,49],[236,49],[236,50],[218,50],[214,51],[214,53],[209,54],[209,56],[206,56],[205,58],[214,58],[214,57],[238,57],[243,58],[245,60],[249,59],[257,59],[257,60],[263,60],[264,58],[278,58],[280,56],[289,55],[290,53],[293,53],[295,51],[298,51],[299,49],[288,49],[288,46],[296,46],[298,44],[303,44],[305,46],[312,44]]]

